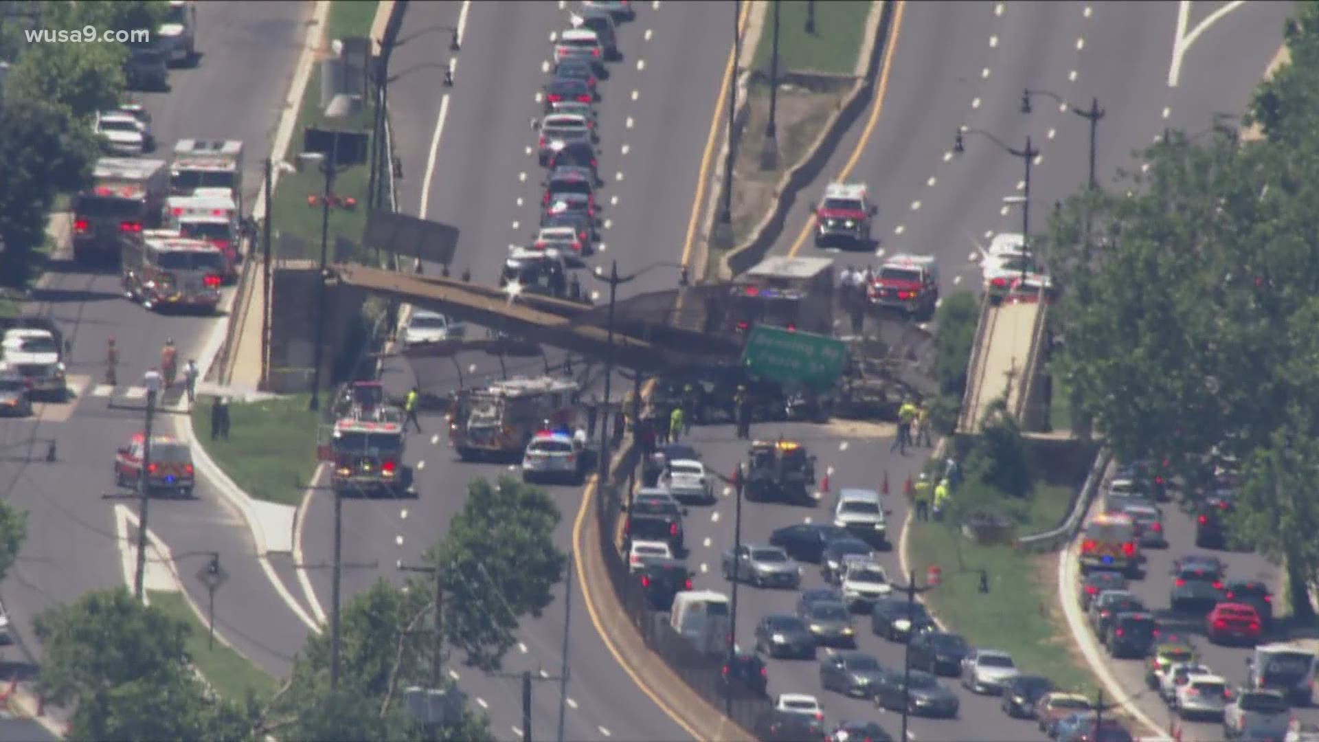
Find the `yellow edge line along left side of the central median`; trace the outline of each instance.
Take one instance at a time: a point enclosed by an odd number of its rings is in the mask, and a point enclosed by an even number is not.
[[[747,18],[751,16],[751,3],[744,1],[741,5],[741,16],[737,18],[737,32],[743,33],[747,29]],[[735,45],[732,50],[728,51],[728,62],[724,65],[724,79],[719,86],[719,98],[715,102],[715,112],[710,121],[710,136],[706,139],[706,149],[700,156],[700,169],[696,173],[696,194],[691,201],[691,218],[687,222],[687,239],[682,248],[682,264],[687,265],[691,259],[691,246],[696,236],[696,222],[700,218],[700,207],[704,202],[706,195],[706,181],[710,176],[710,164],[714,157],[715,143],[719,140],[719,124],[723,121],[723,110],[728,99],[728,90],[732,86],[733,69],[737,62],[736,58],[737,46]],[[654,379],[646,382],[642,393],[645,396],[650,395],[654,387]],[[583,544],[582,543],[582,527],[586,523],[587,514],[591,512],[598,491],[598,478],[592,478],[582,492],[582,506],[578,507],[576,518],[572,520],[572,549],[580,555],[584,549],[599,548],[596,544]],[[650,698],[650,702],[656,705],[665,716],[673,720],[683,731],[691,735],[692,739],[700,739],[700,734],[692,729],[686,720],[683,720],[673,708],[663,702],[660,696],[641,679],[641,675],[628,664],[623,654],[619,652],[613,638],[604,630],[604,624],[600,622],[600,615],[595,609],[595,601],[591,598],[591,584],[586,578],[586,568],[583,566],[583,560],[574,560],[576,566],[578,584],[582,586],[582,597],[586,603],[586,611],[591,617],[591,624],[595,626],[595,632],[600,636],[604,643],[604,648],[608,650],[609,655],[613,656],[613,661],[623,668],[623,672],[637,685],[641,693]]]

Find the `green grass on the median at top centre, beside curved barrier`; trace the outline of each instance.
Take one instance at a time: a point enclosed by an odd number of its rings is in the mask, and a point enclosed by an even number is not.
[[[815,3],[815,33],[806,33],[806,1],[777,3],[780,70],[794,73],[830,73],[851,75],[856,73],[857,55],[865,36],[865,18],[871,3],[861,0],[819,0]],[[774,12],[765,13],[765,28],[756,46],[757,70],[769,69],[774,42]]]

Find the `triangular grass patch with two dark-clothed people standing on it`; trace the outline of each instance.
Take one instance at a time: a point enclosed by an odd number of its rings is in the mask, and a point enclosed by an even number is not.
[[[230,405],[230,440],[211,440],[211,397],[198,397],[193,429],[206,453],[253,498],[297,506],[317,469],[321,417],[307,395]],[[299,487],[298,485],[302,485]]]

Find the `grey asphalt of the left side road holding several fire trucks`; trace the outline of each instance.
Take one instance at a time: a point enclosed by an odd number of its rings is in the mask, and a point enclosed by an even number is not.
[[[255,195],[310,13],[305,3],[200,4],[199,65],[173,70],[168,94],[135,95],[154,119],[160,149],[153,156],[168,160],[174,141],[183,137],[240,139],[247,144],[244,190]],[[124,581],[112,518],[116,503],[102,494],[113,490],[115,448],[140,429],[142,413],[109,409],[108,403],[140,384],[168,337],[177,341],[181,360],[199,356],[218,323],[145,312],[123,298],[117,275],[78,272],[67,256],[57,256],[49,279],[28,310],[49,312],[73,341],[69,372],[78,397],[46,405],[34,420],[8,422],[0,433],[7,446],[54,438],[59,458],[54,465],[20,461],[20,445],[8,448],[0,461],[0,494],[30,512],[26,544],[4,589],[21,639],[17,651],[28,661],[40,658],[33,615]],[[109,338],[117,341],[120,356],[115,392],[98,389]],[[168,429],[170,417],[161,415],[158,424]],[[42,445],[38,455],[44,453]],[[219,632],[266,671],[284,675],[307,627],[276,597],[239,515],[204,482],[197,491],[191,502],[153,500],[149,527],[177,555],[185,586],[202,605],[206,590],[193,574],[204,557],[183,555],[220,553],[230,580],[216,593]],[[136,503],[128,504],[136,511]]]

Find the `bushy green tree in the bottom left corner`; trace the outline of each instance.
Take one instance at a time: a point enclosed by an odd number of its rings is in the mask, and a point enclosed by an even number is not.
[[[75,706],[74,739],[240,739],[237,706],[211,700],[189,663],[191,626],[123,588],[84,594],[36,619],[41,689]]]

